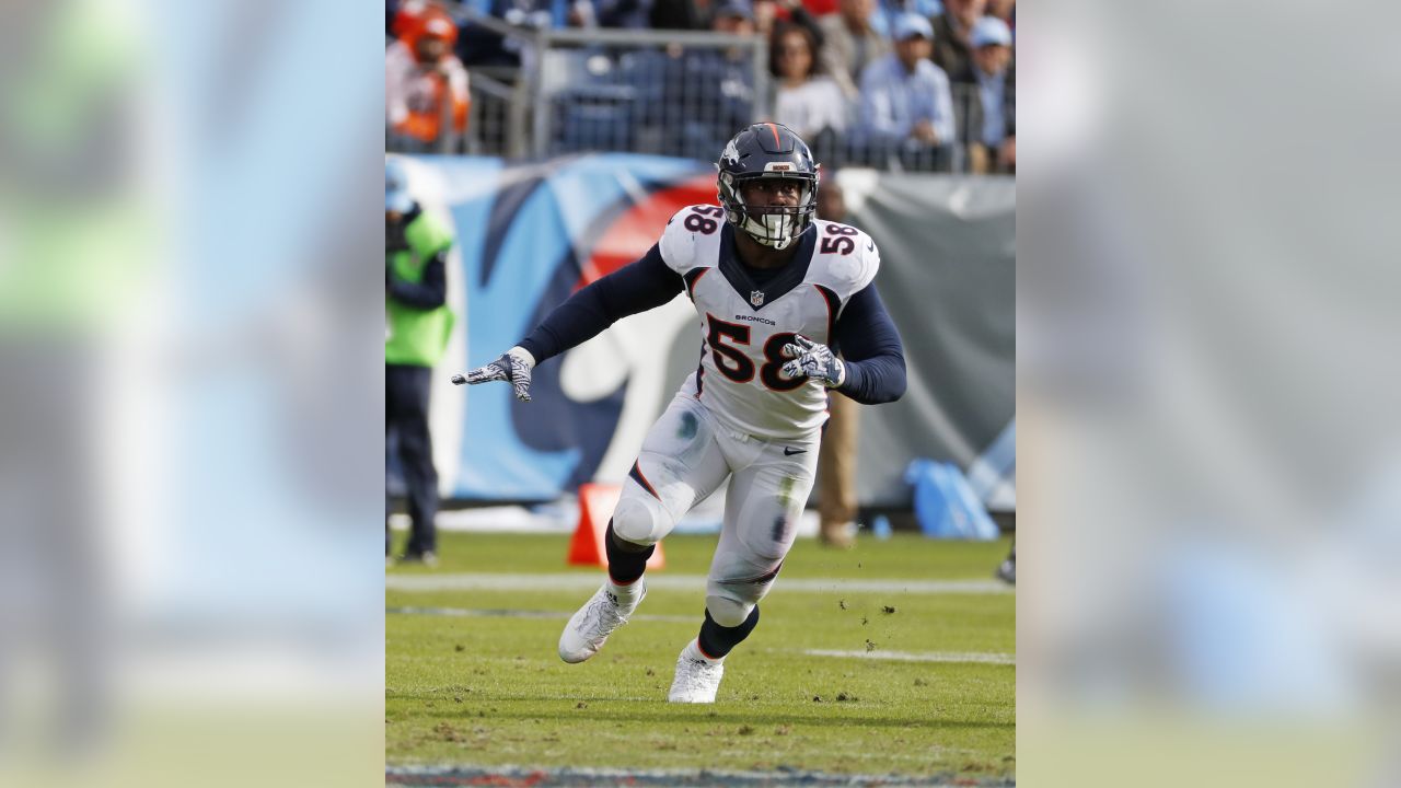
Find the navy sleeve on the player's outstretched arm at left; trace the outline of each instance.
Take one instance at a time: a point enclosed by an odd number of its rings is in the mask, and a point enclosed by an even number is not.
[[[660,307],[684,289],[681,275],[667,268],[661,250],[653,244],[642,259],[614,271],[555,307],[520,345],[535,356],[535,363],[544,362],[593,339],[629,314]]]

